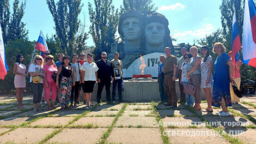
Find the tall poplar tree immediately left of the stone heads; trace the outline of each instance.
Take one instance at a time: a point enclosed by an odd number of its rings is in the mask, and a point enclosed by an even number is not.
[[[115,10],[112,0],[94,0],[95,10],[89,2],[90,34],[92,35],[95,49],[94,59],[100,59],[100,53],[110,52],[111,43],[117,42],[115,33],[119,20],[118,9]]]

